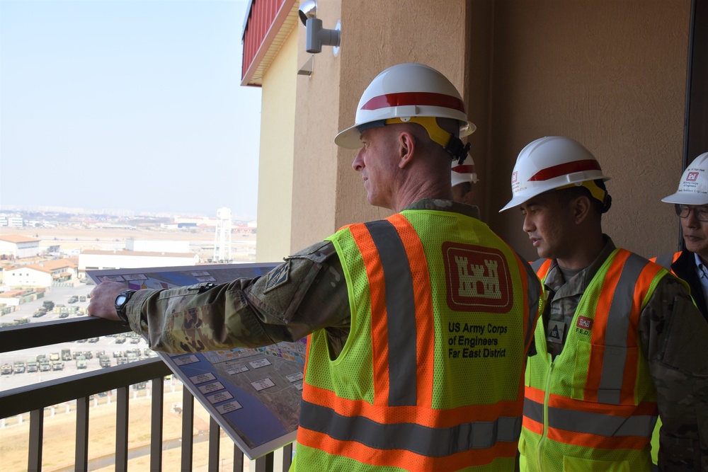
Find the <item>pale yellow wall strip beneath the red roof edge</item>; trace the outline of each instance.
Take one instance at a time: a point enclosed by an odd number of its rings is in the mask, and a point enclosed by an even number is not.
[[[293,28],[263,74],[257,262],[279,261],[290,253],[297,49]]]

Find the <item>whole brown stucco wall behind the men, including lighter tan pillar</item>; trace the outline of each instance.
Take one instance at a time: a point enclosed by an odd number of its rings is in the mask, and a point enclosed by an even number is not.
[[[604,226],[617,244],[644,255],[673,251],[678,222],[660,200],[673,192],[681,170],[690,0],[414,6],[319,2],[325,28],[341,20],[342,44],[338,57],[324,47],[314,57],[314,74],[295,79],[290,251],[344,224],[389,214],[368,205],[351,169],[355,151],[338,149],[333,137],[353,123],[371,79],[409,61],[442,71],[464,96],[478,126],[469,138],[481,179],[476,201],[483,219],[525,257],[535,258],[535,251],[518,212],[497,211],[510,198],[520,149],[553,134],[585,144],[612,177],[614,204]],[[298,30],[299,68],[310,54],[304,27]],[[261,247],[264,231],[258,232]]]

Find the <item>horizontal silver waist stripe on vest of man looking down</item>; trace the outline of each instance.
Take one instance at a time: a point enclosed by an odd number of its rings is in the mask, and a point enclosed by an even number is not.
[[[524,416],[543,423],[543,405],[525,398]],[[581,410],[548,408],[549,427],[605,437],[651,437],[656,418],[653,415],[636,415],[622,418],[615,415],[603,415],[603,413],[590,413]]]

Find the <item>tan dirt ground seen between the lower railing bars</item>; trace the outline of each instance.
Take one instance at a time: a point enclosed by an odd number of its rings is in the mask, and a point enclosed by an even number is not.
[[[150,419],[151,400],[144,391],[142,396],[130,398],[128,444],[130,448],[139,449],[150,444]],[[91,466],[91,461],[103,457],[113,457],[115,454],[115,406],[116,403],[108,404],[105,398],[99,398],[97,406],[93,406],[89,412],[89,471],[113,472],[115,466]],[[180,439],[182,431],[182,418],[172,411],[173,403],[182,401],[182,392],[165,393],[164,396],[164,424],[163,439],[165,442],[170,439]],[[55,415],[51,415],[50,409],[45,410],[44,420],[44,440],[42,447],[42,471],[43,472],[64,472],[74,469],[74,451],[76,447],[76,410],[72,405],[72,411],[66,413],[64,405],[56,408]],[[8,420],[11,420],[8,418]],[[27,471],[27,453],[30,422],[28,415],[21,424],[16,420],[13,424],[0,427],[0,458],[1,469],[4,472]],[[202,406],[195,402],[195,437],[201,434],[208,434],[209,413]],[[208,441],[194,443],[193,471],[207,471],[208,466]],[[221,459],[219,459],[219,470],[233,470],[234,443],[222,432],[220,442]],[[166,449],[162,452],[164,471],[178,471],[181,465],[181,448]],[[244,457],[244,471],[250,471],[249,460]],[[150,456],[131,459],[128,467],[131,471],[149,471]]]

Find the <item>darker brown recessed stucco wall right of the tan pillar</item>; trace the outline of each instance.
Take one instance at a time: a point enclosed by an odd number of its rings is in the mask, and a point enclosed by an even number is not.
[[[496,209],[519,151],[555,134],[583,143],[612,178],[603,226],[617,245],[647,256],[676,248],[678,219],[660,200],[681,174],[689,17],[688,0],[494,2],[479,197],[528,258],[518,212]]]

